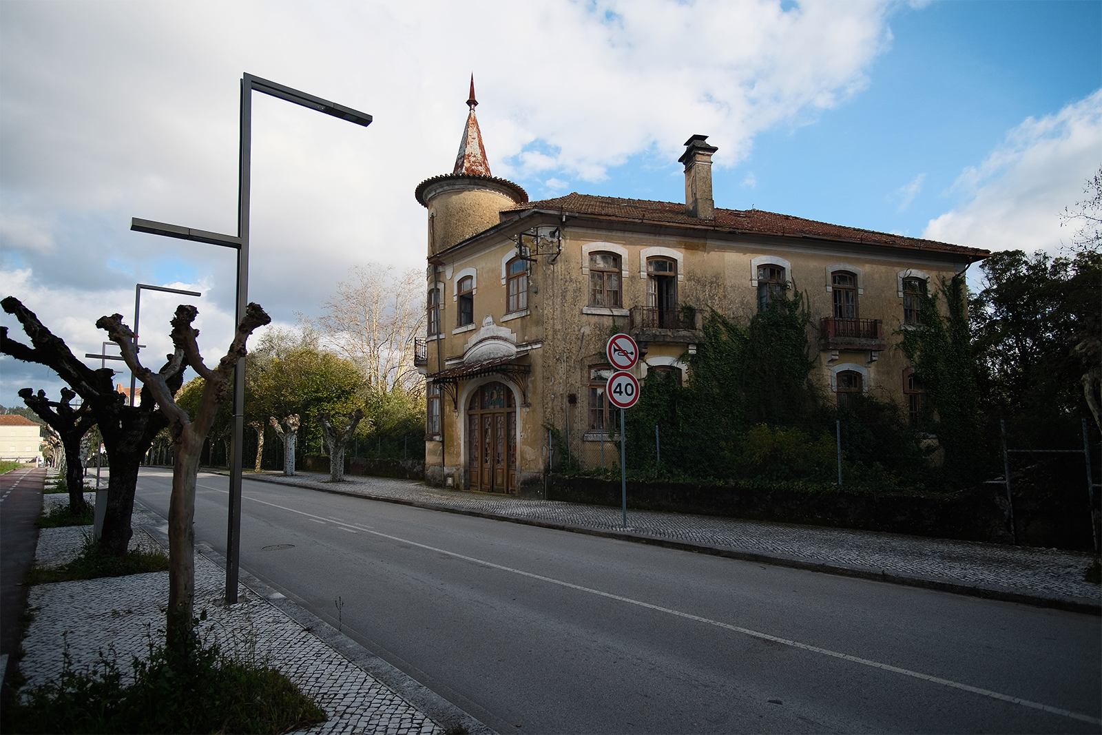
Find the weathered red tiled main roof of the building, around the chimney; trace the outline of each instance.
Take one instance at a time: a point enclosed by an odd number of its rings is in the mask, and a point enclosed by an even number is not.
[[[735,233],[760,235],[804,236],[827,240],[882,245],[914,250],[930,250],[968,256],[974,260],[986,258],[991,252],[979,248],[966,248],[951,242],[923,240],[888,233],[877,233],[858,227],[845,227],[829,223],[791,217],[763,209],[715,209],[715,219],[700,219],[685,214],[684,204],[677,202],[649,202],[647,199],[620,199],[614,196],[593,196],[576,192],[554,199],[527,202],[505,212],[550,209],[552,212],[592,215],[620,220],[649,221],[670,225],[691,225]],[[503,213],[505,214],[505,213]]]

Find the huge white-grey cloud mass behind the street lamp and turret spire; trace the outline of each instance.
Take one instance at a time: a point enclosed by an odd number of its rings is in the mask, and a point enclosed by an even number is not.
[[[599,181],[639,154],[672,170],[696,132],[731,166],[758,132],[814,119],[867,84],[889,43],[888,8],[0,3],[0,295],[36,304],[75,352],[97,352],[95,318],[128,312],[136,281],[181,279],[165,269],[183,263],[184,280],[203,285],[207,349],[224,347],[234,253],[129,223],[236,231],[242,72],[375,116],[360,128],[252,97],[249,295],[290,323],[316,313],[356,264],[423,266],[425,213],[412,192],[451,171],[471,72],[494,173],[530,190]],[[166,335],[144,304],[142,338],[154,339],[145,324]],[[166,336],[156,339],[162,354]]]

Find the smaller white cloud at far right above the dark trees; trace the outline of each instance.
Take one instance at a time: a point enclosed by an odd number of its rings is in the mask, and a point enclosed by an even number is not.
[[[1102,89],[1040,119],[1028,118],[957,179],[964,204],[931,219],[922,237],[988,250],[1058,253],[1058,214],[1083,198],[1102,166]]]

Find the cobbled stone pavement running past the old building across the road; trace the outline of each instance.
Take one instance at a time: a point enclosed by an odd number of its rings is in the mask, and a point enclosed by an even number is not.
[[[628,530],[624,532],[619,508],[464,493],[387,477],[346,475],[339,484],[331,483],[327,474],[317,473],[291,477],[250,473],[246,477],[645,542],[684,544],[734,556],[984,597],[1078,610],[1098,610],[1102,604],[1102,588],[1083,579],[1093,560],[1083,552],[631,510],[630,497]]]

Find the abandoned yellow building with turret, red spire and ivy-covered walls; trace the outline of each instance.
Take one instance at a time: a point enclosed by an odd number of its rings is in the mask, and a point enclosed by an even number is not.
[[[452,173],[421,182],[428,209],[425,476],[496,493],[542,486],[547,426],[576,457],[608,442],[605,345],[645,349],[633,370],[683,380],[707,309],[746,323],[797,284],[815,316],[813,377],[840,402],[872,392],[917,412],[920,383],[897,349],[917,298],[988,255],[712,199],[705,136],[685,142],[685,201],[569,194],[529,202],[490,174],[469,114]],[[689,304],[695,307],[684,310]],[[814,344],[814,342],[812,342]],[[646,390],[646,388],[644,388]]]

